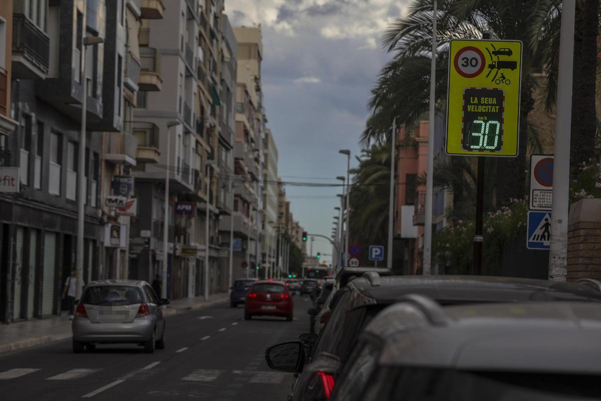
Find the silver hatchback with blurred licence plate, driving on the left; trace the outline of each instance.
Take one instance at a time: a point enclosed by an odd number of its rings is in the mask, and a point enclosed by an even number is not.
[[[73,318],[73,352],[96,344],[135,343],[145,352],[165,347],[165,319],[146,281],[102,280],[85,287]]]

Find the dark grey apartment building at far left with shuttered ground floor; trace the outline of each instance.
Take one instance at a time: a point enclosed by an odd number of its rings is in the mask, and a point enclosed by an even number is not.
[[[4,166],[19,168],[20,188],[0,194],[3,322],[66,308],[60,292],[76,260],[79,174],[86,183],[84,280],[111,273],[104,268],[106,216],[100,187],[103,132],[123,127],[123,104],[118,101],[123,52],[117,36],[124,29],[125,13],[124,2],[117,0],[9,0],[2,2],[3,12],[8,2],[13,3],[10,34],[9,24],[2,25],[4,37],[12,35],[7,52],[12,48],[11,60],[4,57],[5,86],[10,88],[10,118],[17,126],[0,139],[0,155]],[[99,37],[103,43],[88,45],[86,37]],[[84,170],[79,171],[84,101],[87,146]]]

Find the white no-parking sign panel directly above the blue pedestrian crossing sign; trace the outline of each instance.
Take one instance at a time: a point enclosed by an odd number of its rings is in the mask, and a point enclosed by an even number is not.
[[[530,156],[530,209],[551,210],[553,204],[553,155]]]

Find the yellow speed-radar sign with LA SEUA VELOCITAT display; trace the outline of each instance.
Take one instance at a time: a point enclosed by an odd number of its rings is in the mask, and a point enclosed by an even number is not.
[[[522,42],[451,40],[447,153],[517,156]]]

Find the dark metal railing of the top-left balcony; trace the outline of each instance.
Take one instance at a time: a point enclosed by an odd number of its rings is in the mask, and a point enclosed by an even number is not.
[[[23,14],[13,15],[13,54],[22,54],[44,74],[48,72],[50,39]]]

